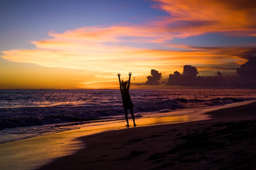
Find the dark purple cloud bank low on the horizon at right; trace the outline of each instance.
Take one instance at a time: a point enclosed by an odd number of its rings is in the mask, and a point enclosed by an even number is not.
[[[249,57],[245,64],[236,68],[236,75],[224,77],[219,71],[213,76],[198,76],[198,70],[194,66],[185,65],[183,73],[175,71],[169,75],[168,82],[160,83],[162,73],[151,70],[146,85],[181,85],[181,86],[219,86],[219,87],[238,87],[256,88],[256,57]],[[136,85],[142,85],[136,84]]]

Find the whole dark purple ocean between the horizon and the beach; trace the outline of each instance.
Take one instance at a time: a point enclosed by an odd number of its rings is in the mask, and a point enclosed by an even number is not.
[[[135,119],[190,114],[256,99],[256,90],[130,90]],[[114,89],[0,90],[0,143],[124,121]]]

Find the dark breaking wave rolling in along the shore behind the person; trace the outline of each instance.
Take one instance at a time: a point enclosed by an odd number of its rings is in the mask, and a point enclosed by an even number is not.
[[[155,112],[157,114],[183,108],[218,106],[251,99],[255,98],[217,97],[213,99],[135,100],[134,113],[139,113],[143,116],[146,112]],[[119,103],[95,106],[1,108],[0,115],[0,129],[3,129],[65,122],[106,121],[107,117],[114,120],[117,117],[123,116],[124,110],[122,104]]]

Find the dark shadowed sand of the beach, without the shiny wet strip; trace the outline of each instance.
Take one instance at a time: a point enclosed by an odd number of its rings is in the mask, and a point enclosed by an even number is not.
[[[255,170],[256,103],[207,115],[80,137],[85,148],[39,170]]]

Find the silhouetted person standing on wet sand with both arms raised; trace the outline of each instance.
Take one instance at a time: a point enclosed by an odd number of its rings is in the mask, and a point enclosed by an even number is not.
[[[118,73],[118,78],[119,78],[119,85],[120,85],[120,91],[121,91],[121,94],[122,94],[122,100],[123,100],[123,106],[124,106],[124,112],[125,112],[125,119],[126,119],[126,122],[127,122],[127,127],[129,127],[129,122],[128,122],[128,109],[130,110],[130,113],[132,115],[132,120],[133,120],[133,125],[134,127],[136,126],[135,124],[135,117],[134,117],[134,114],[133,114],[133,110],[132,108],[134,108],[133,104],[132,104],[132,100],[131,100],[131,97],[130,97],[130,93],[129,93],[129,88],[130,88],[130,79],[131,79],[131,75],[132,73],[129,72],[129,80],[128,81],[123,81],[122,79],[122,82],[120,80],[120,76],[121,74]]]

